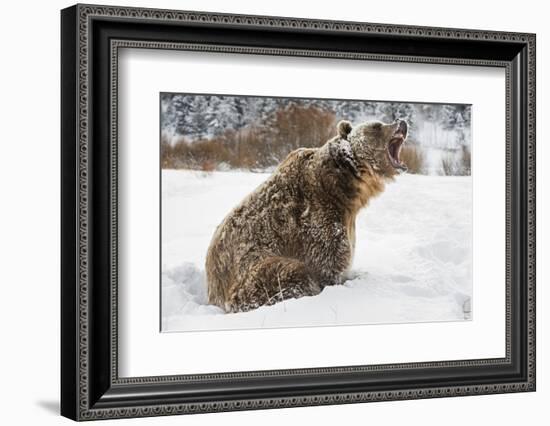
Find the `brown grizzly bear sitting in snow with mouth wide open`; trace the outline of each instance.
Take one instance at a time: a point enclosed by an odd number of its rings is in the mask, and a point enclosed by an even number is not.
[[[319,148],[291,152],[216,228],[206,257],[209,303],[244,312],[341,284],[355,218],[400,160],[407,123],[337,124]]]

